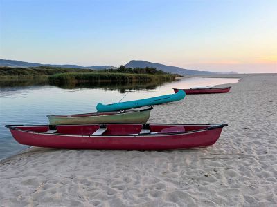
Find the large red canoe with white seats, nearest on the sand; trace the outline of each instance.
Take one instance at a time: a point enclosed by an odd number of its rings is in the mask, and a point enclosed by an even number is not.
[[[20,144],[99,150],[173,150],[211,146],[227,124],[11,126]]]

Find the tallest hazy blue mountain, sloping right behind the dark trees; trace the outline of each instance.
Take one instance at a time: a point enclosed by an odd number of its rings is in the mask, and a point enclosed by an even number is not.
[[[170,73],[177,73],[179,75],[209,75],[209,74],[216,74],[217,72],[209,72],[209,71],[199,71],[199,70],[188,70],[184,68],[179,68],[175,66],[166,66],[159,63],[151,63],[148,61],[136,61],[132,60],[129,61],[125,65],[127,68],[145,68],[145,67],[152,67],[157,68],[159,70],[163,70],[164,72],[170,72]]]

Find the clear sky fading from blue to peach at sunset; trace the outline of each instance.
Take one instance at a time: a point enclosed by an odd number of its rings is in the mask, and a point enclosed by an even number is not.
[[[0,0],[0,59],[277,72],[277,0]]]

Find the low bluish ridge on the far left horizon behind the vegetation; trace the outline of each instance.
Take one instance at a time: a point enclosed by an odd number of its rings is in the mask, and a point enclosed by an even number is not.
[[[93,69],[93,70],[103,70],[103,69],[115,69],[113,66],[77,66],[77,65],[52,65],[52,64],[40,64],[40,63],[28,63],[23,61],[15,61],[8,59],[0,59],[0,66],[9,66],[9,67],[38,67],[38,66],[51,66],[51,67],[60,67],[60,68],[79,68],[79,69]]]

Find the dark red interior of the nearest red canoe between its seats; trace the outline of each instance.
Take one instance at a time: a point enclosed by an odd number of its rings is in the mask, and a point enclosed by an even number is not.
[[[139,134],[143,129],[143,124],[106,124],[107,130],[102,135],[132,135]],[[194,130],[202,130],[208,128],[209,125],[165,125],[165,124],[150,124],[150,132],[161,132],[166,128],[174,126],[184,126],[185,132]],[[56,126],[57,132],[55,134],[62,135],[92,135],[100,128],[99,124],[87,125],[60,125]],[[26,130],[29,132],[47,132],[50,130],[49,126],[15,126],[15,129]]]

